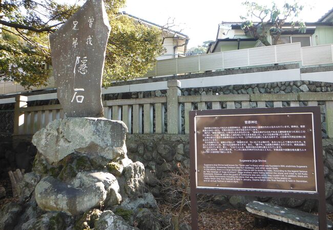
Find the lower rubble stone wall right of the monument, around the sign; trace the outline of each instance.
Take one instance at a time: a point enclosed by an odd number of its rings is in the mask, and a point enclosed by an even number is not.
[[[140,160],[148,172],[146,183],[155,196],[160,196],[157,179],[162,179],[175,169],[178,163],[189,167],[189,136],[173,134],[131,134],[127,135],[127,148],[130,158]],[[323,158],[325,174],[325,196],[327,211],[333,212],[333,141],[323,140]],[[146,173],[147,174],[147,173]],[[155,178],[156,177],[156,178]],[[317,201],[313,199],[270,198],[248,196],[212,196],[218,205],[244,209],[245,204],[253,201],[265,201],[289,208],[297,208],[306,212],[314,211]]]

